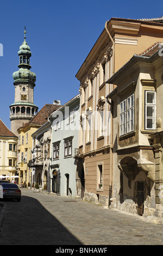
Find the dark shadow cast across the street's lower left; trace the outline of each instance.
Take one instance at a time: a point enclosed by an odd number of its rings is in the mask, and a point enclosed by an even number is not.
[[[0,245],[82,245],[38,200],[22,195],[20,202],[2,202]]]

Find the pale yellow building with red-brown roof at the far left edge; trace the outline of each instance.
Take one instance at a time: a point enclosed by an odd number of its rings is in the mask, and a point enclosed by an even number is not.
[[[17,136],[0,119],[0,179],[14,180],[16,174]]]

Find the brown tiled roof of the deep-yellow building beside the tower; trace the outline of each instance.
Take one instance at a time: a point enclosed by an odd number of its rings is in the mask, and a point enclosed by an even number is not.
[[[46,104],[28,123],[24,123],[21,128],[28,126],[28,124],[36,124],[42,126],[47,122],[47,117],[59,107],[60,105]]]

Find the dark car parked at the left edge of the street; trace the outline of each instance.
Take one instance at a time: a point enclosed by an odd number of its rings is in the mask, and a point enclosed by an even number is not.
[[[18,202],[21,200],[21,190],[16,184],[1,183],[3,187],[3,198],[16,199]]]

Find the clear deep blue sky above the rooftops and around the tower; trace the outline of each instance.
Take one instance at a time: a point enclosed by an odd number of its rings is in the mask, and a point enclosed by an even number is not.
[[[39,110],[53,100],[65,104],[79,93],[80,66],[111,17],[142,19],[163,15],[162,1],[117,0],[0,0],[0,118],[10,129],[10,104],[18,70],[18,50],[26,41],[32,51],[31,71],[36,74],[34,104]]]

